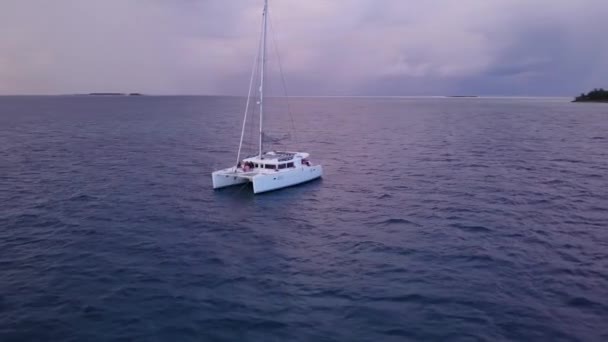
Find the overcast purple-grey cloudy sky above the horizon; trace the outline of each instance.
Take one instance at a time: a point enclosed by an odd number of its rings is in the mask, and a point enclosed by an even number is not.
[[[0,94],[245,94],[261,4],[0,0]],[[608,87],[606,0],[270,0],[270,11],[290,95]],[[271,82],[277,61],[271,45]]]

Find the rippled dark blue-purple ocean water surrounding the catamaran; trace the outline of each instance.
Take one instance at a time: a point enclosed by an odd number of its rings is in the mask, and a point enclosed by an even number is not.
[[[607,105],[294,98],[324,178],[213,191],[243,107],[0,97],[0,340],[608,340]]]

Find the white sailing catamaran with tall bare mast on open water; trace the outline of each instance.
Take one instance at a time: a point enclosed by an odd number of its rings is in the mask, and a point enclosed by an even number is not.
[[[249,83],[249,94],[245,105],[245,117],[241,130],[241,139],[237,152],[236,166],[214,171],[211,176],[213,188],[219,189],[228,186],[252,183],[255,194],[282,189],[317,179],[323,174],[323,167],[319,164],[311,163],[309,154],[306,152],[288,151],[264,151],[263,149],[263,118],[264,118],[264,67],[266,64],[266,26],[268,21],[268,0],[264,0],[264,10],[262,12],[262,36],[261,47],[256,56],[251,81]],[[261,61],[260,61],[261,55]],[[241,150],[243,137],[245,135],[245,125],[247,122],[247,112],[251,98],[251,89],[255,70],[260,64],[260,88],[259,88],[259,149],[255,156],[241,160]]]

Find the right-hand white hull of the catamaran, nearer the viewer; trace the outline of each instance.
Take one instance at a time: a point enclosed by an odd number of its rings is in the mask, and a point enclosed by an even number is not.
[[[320,178],[323,175],[321,165],[297,168],[292,171],[278,172],[276,174],[257,175],[253,177],[253,193],[259,194],[279,190]]]

